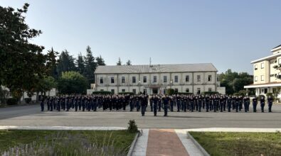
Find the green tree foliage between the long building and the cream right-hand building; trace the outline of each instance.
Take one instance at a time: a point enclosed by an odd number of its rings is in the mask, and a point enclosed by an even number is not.
[[[234,94],[244,89],[244,86],[253,84],[253,76],[247,72],[232,72],[228,69],[220,74],[221,87],[226,87],[226,94]]]

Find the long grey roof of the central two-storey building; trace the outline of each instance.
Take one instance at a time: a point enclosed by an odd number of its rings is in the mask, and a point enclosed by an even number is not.
[[[114,65],[99,66],[95,74],[163,73],[163,72],[218,72],[211,63],[176,65]]]

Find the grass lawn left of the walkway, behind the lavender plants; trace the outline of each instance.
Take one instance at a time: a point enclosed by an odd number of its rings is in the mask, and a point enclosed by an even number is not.
[[[46,148],[46,151],[41,151],[44,155],[52,155],[51,152],[58,155],[89,155],[90,152],[78,150],[86,151],[94,145],[92,151],[96,152],[95,155],[104,155],[104,151],[127,155],[135,135],[126,130],[0,130],[0,151],[11,151],[11,147],[28,150]],[[97,149],[102,150],[97,152]],[[111,155],[110,152],[107,154]]]

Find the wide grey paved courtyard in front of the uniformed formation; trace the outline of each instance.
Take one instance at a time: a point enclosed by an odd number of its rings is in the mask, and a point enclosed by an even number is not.
[[[260,108],[258,108],[258,111]],[[148,108],[149,110],[149,108]],[[267,109],[265,109],[267,112]],[[148,111],[140,112],[65,112],[40,111],[39,105],[0,108],[0,126],[101,126],[127,127],[129,119],[134,119],[139,128],[280,128],[281,105],[273,106],[273,113],[206,113],[169,112],[157,117]]]

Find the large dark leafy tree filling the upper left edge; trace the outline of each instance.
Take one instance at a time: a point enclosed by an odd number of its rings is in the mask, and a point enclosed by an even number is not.
[[[23,91],[32,91],[47,71],[43,46],[28,42],[42,33],[26,24],[23,13],[28,6],[16,11],[0,6],[0,86],[8,87],[17,99]]]

